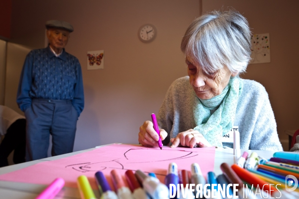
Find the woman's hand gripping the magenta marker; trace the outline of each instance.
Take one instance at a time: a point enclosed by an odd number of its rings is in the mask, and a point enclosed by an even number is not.
[[[160,130],[161,140],[167,137],[167,132],[164,129]],[[138,141],[144,146],[154,146],[158,147],[157,141],[159,140],[159,135],[153,129],[153,124],[151,121],[145,121],[145,123],[139,128]]]

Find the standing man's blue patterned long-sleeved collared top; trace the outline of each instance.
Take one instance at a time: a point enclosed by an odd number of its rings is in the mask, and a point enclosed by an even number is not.
[[[49,46],[30,51],[18,86],[20,109],[27,109],[33,98],[72,100],[80,115],[84,107],[84,93],[79,60],[65,50],[56,57]]]

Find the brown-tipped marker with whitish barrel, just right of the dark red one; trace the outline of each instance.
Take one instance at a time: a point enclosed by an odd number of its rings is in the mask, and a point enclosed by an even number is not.
[[[169,198],[169,189],[166,185],[160,183],[157,178],[147,176],[141,170],[135,172],[135,176],[142,183],[143,188],[152,199],[166,199]]]

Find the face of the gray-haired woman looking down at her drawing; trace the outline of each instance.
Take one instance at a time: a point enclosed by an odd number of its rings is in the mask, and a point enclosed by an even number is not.
[[[186,63],[190,84],[196,96],[201,100],[208,100],[220,95],[227,86],[230,77],[237,75],[232,74],[226,66],[217,71],[205,73],[201,66],[191,63],[187,59]]]

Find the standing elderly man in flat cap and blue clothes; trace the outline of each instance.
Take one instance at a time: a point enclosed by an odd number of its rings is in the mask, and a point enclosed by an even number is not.
[[[52,156],[72,152],[84,107],[80,63],[64,49],[73,26],[50,20],[46,28],[49,45],[27,55],[17,92],[27,119],[26,161],[47,157],[50,134]]]

